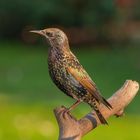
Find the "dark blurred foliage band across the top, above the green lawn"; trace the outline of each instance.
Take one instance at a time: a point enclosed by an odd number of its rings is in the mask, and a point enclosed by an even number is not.
[[[139,42],[139,8],[139,0],[3,0],[0,38],[32,42],[30,29],[59,26],[69,29],[72,43]]]

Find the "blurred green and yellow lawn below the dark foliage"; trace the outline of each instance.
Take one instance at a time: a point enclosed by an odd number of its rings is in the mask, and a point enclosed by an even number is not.
[[[69,106],[73,100],[62,94],[49,78],[48,48],[12,42],[0,43],[0,46],[0,140],[57,139],[53,108]],[[76,48],[73,51],[106,98],[126,79],[140,80],[139,47]],[[139,101],[137,95],[127,107],[126,117],[112,118],[109,127],[100,126],[85,140],[140,139]],[[74,114],[81,117],[89,110],[81,104]]]

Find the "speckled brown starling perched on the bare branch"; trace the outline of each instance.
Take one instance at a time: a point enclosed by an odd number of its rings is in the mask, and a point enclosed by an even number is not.
[[[46,38],[50,46],[48,51],[49,75],[62,92],[76,100],[72,106],[67,108],[67,112],[76,108],[81,102],[85,102],[95,110],[101,124],[108,124],[99,110],[99,105],[103,104],[110,110],[112,106],[101,95],[96,84],[70,50],[67,35],[58,28],[30,32]]]

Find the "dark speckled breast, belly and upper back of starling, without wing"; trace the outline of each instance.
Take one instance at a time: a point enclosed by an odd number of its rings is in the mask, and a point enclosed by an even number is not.
[[[53,82],[64,93],[76,100],[84,98],[87,90],[68,73],[67,67],[80,69],[82,66],[71,52],[58,51],[54,48],[49,50],[48,68]]]

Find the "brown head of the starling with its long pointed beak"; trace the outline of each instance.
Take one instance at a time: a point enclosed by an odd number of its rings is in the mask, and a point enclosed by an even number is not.
[[[68,39],[66,34],[58,28],[47,28],[44,30],[33,30],[30,32],[44,36],[51,47],[56,48],[68,46]]]

